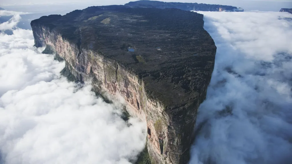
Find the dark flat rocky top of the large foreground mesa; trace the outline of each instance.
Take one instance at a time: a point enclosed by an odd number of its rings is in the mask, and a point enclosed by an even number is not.
[[[86,21],[96,15],[102,16]],[[110,19],[107,25],[101,23],[106,18]],[[216,48],[203,29],[202,14],[104,6],[43,16],[34,24],[57,29],[63,38],[133,68],[148,82],[151,95],[170,107],[196,97],[211,76]],[[128,52],[128,47],[135,52]]]

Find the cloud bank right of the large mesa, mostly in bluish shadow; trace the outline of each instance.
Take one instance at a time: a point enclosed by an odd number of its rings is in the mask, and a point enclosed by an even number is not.
[[[217,54],[190,163],[290,163],[292,15],[200,13]]]

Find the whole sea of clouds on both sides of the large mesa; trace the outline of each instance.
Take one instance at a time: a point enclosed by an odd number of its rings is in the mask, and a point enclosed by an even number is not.
[[[199,108],[191,164],[292,161],[292,14],[200,12],[217,46]],[[2,15],[1,15],[2,14]],[[64,62],[35,48],[23,13],[0,24],[0,163],[127,164],[145,123],[60,75]],[[12,35],[3,31],[12,30]]]

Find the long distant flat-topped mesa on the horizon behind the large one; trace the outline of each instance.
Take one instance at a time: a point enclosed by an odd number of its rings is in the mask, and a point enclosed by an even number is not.
[[[178,8],[187,11],[244,11],[242,8],[225,5],[210,5],[197,3],[161,2],[161,1],[135,1],[125,4],[130,7],[152,7],[152,8]]]

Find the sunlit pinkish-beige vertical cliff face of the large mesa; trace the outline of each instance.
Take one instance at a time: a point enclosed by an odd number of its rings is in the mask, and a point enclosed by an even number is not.
[[[95,91],[114,101],[123,99],[132,116],[147,122],[147,148],[152,163],[187,162],[188,153],[182,152],[182,136],[177,133],[181,131],[181,125],[171,121],[164,110],[164,104],[147,96],[144,82],[131,69],[92,50],[79,49],[77,44],[63,39],[48,27],[32,26],[32,29],[35,46],[46,46],[47,50],[49,47],[48,51],[64,59],[66,69],[78,81],[91,79]],[[200,103],[195,105],[198,107]]]

